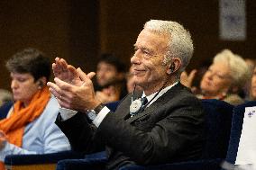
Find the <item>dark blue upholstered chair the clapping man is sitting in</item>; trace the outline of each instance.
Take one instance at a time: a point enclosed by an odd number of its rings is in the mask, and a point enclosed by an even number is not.
[[[202,160],[165,164],[160,166],[124,166],[122,170],[216,170],[226,156],[233,105],[218,100],[202,100],[206,114],[206,147]],[[105,152],[86,159],[68,159],[58,162],[57,170],[103,169],[107,161]],[[95,157],[96,156],[96,157]]]

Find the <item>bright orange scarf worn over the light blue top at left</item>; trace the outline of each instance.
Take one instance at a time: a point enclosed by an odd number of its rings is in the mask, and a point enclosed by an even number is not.
[[[14,110],[9,118],[0,121],[0,130],[3,130],[8,141],[18,147],[23,144],[23,132],[25,126],[37,119],[50,100],[48,87],[44,87],[32,96],[32,101],[27,107],[23,107],[21,101],[14,103]],[[0,170],[2,170],[0,162]]]

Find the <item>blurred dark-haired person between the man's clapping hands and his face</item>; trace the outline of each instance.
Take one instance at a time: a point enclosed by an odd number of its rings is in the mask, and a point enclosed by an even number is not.
[[[127,94],[125,65],[113,54],[103,54],[96,68],[96,97],[102,103],[114,102]]]

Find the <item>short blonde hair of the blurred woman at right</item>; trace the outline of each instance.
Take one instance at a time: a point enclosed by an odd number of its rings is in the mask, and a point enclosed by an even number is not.
[[[217,62],[227,64],[230,69],[230,76],[233,78],[233,85],[242,87],[247,81],[249,81],[251,76],[250,68],[241,56],[233,54],[230,49],[224,49],[220,53],[216,54],[214,63]]]

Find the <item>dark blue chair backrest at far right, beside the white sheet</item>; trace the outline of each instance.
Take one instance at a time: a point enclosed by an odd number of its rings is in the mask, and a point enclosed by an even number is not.
[[[226,155],[226,161],[230,164],[234,164],[237,157],[237,152],[239,148],[239,143],[242,134],[242,123],[245,115],[245,108],[256,106],[256,101],[251,101],[248,103],[242,103],[237,105],[233,109],[233,119],[232,119],[232,128],[229,140],[228,151]],[[255,113],[254,113],[255,114]],[[250,115],[247,115],[250,116]],[[256,116],[256,115],[254,115]],[[254,144],[255,145],[255,144]]]

